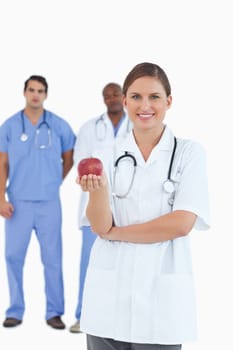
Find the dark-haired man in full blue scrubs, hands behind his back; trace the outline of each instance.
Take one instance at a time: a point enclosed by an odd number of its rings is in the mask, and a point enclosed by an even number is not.
[[[10,295],[4,327],[23,321],[23,267],[34,231],[44,267],[46,322],[65,328],[59,188],[73,166],[75,134],[64,119],[44,109],[47,90],[44,77],[29,77],[25,108],[0,127],[0,215]]]

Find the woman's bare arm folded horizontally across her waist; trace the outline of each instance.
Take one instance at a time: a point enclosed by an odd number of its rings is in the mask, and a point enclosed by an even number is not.
[[[112,227],[108,233],[101,234],[101,237],[132,243],[158,243],[186,236],[195,220],[194,213],[176,210],[142,224]]]

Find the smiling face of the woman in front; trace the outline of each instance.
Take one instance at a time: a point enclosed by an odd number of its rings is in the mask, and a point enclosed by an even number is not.
[[[136,79],[124,96],[124,106],[134,129],[161,127],[171,103],[172,97],[167,97],[160,80],[149,76]]]

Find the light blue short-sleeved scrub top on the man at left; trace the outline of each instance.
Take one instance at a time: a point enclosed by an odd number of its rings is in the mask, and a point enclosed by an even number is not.
[[[48,128],[23,116],[27,141],[21,141],[21,112],[7,119],[0,127],[0,152],[8,153],[9,175],[7,193],[9,199],[52,200],[59,196],[62,183],[62,153],[74,148],[75,134],[70,125],[52,112],[46,111],[46,122],[51,130],[49,145]],[[40,148],[44,144],[45,148]]]

